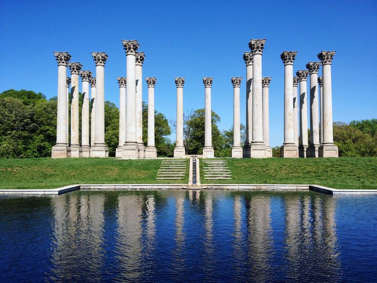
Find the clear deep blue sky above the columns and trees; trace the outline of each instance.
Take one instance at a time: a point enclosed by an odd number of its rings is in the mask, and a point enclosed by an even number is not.
[[[184,110],[204,108],[203,76],[213,76],[212,109],[220,129],[233,124],[232,76],[241,85],[250,38],[267,38],[263,76],[270,84],[270,144],[283,143],[283,50],[297,50],[294,71],[336,50],[332,64],[334,121],[377,117],[377,1],[5,1],[0,2],[0,91],[57,91],[53,51],[68,51],[95,72],[92,51],[109,55],[105,99],[119,105],[125,76],[121,39],[138,39],[143,76],[156,76],[155,107],[176,115],[175,76],[186,77]],[[81,86],[80,86],[81,89]],[[146,83],[143,100],[147,100]],[[175,135],[172,135],[175,139]]]

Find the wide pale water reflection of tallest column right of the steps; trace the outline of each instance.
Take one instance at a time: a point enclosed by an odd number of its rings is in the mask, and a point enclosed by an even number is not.
[[[252,197],[249,209],[249,260],[250,273],[259,276],[269,272],[272,257],[270,227],[270,199],[268,196]]]

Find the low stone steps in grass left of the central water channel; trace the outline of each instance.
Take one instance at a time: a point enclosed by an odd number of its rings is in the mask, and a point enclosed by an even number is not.
[[[180,180],[186,175],[186,159],[163,159],[156,179]]]

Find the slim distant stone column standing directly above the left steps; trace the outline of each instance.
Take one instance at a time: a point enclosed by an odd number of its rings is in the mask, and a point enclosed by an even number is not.
[[[175,85],[177,86],[177,121],[176,121],[176,144],[174,148],[174,157],[185,155],[183,146],[183,85],[184,77],[176,77]]]

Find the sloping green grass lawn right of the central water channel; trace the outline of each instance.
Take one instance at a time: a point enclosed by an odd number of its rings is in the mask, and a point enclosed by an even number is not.
[[[231,180],[202,184],[309,184],[336,189],[377,189],[377,158],[266,158],[227,160]],[[201,167],[202,168],[202,167]]]

